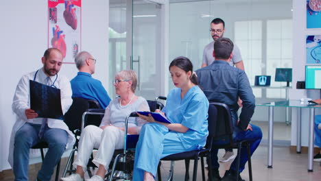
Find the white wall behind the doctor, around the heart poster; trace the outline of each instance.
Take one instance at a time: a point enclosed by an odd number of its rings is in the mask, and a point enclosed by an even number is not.
[[[108,83],[108,8],[106,0],[82,0],[82,50],[97,59],[95,78]],[[15,117],[12,97],[21,75],[42,67],[47,49],[47,0],[3,1],[0,6],[0,171],[9,169],[8,145]],[[61,74],[69,79],[75,64],[63,64]]]

